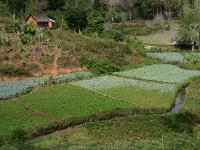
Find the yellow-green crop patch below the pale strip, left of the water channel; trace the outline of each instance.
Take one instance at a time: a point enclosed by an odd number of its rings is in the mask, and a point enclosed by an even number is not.
[[[146,108],[170,109],[174,104],[176,96],[175,92],[161,92],[159,90],[147,90],[133,86],[118,86],[96,90],[96,92]]]

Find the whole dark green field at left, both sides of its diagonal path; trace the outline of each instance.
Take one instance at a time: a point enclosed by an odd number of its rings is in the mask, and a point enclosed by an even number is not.
[[[45,87],[15,101],[0,103],[0,135],[72,116],[132,107],[131,103],[97,95],[77,86]]]

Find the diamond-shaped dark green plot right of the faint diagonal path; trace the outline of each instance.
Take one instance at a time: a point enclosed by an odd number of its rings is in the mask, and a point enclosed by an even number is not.
[[[115,101],[73,85],[42,88],[17,100],[58,119],[134,107],[131,103]]]

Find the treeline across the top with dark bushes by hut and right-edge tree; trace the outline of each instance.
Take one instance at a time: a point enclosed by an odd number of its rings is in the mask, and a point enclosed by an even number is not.
[[[41,13],[56,20],[54,28],[96,36],[109,29],[105,22],[156,18],[160,24],[178,19],[178,40],[200,43],[199,0],[0,0],[0,16],[24,21],[29,14]]]

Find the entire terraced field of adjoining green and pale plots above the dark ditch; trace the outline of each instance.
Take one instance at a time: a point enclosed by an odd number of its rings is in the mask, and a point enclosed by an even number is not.
[[[67,81],[71,76],[66,77]],[[196,76],[200,76],[199,71],[160,64],[39,88],[14,100],[0,102],[3,118],[0,134],[116,108],[169,110],[180,86]]]

